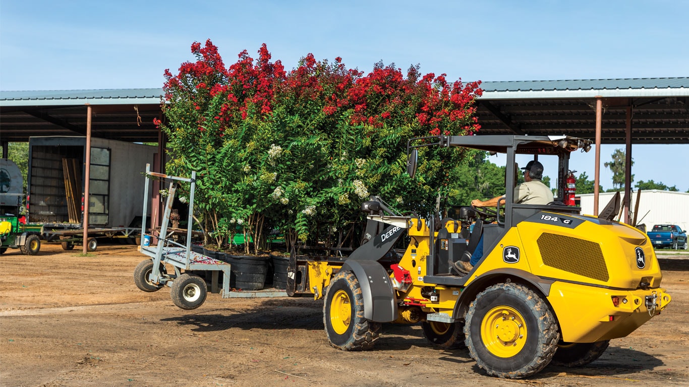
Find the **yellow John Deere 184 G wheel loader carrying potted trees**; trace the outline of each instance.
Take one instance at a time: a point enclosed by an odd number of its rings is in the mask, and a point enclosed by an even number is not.
[[[591,145],[566,136],[437,136],[410,144],[411,175],[418,147],[506,154],[508,166],[527,154],[557,171],[558,193],[565,192],[570,153]],[[653,247],[646,233],[614,220],[619,193],[599,216],[582,215],[558,198],[515,204],[509,188],[516,178],[506,168],[506,195],[496,208],[457,207],[444,218],[400,216],[373,197],[362,205],[369,222],[361,247],[346,259],[293,256],[288,294],[324,297],[327,337],[345,351],[371,348],[381,323],[420,323],[429,342],[466,346],[496,377],[528,377],[551,362],[593,362],[610,339],[629,335],[670,302]],[[480,262],[468,274],[455,271],[453,262],[481,237]],[[404,240],[406,249],[393,248]]]

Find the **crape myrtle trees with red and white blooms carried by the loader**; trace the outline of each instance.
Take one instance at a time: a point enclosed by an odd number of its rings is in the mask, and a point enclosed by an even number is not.
[[[195,63],[165,72],[163,121],[169,173],[197,172],[196,208],[216,244],[245,233],[245,253],[278,228],[296,243],[358,243],[353,224],[371,195],[400,212],[429,213],[463,154],[420,149],[417,176],[405,171],[407,140],[480,129],[480,83],[404,74],[377,63],[369,74],[303,57],[293,70],[264,44],[225,68],[211,41],[194,43]],[[251,238],[249,238],[249,236]],[[256,243],[249,244],[249,240]]]

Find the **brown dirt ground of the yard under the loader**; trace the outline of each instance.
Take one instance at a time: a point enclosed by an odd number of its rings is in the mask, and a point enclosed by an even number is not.
[[[136,247],[79,252],[0,256],[2,386],[689,385],[689,254],[659,255],[672,304],[596,362],[513,381],[484,375],[466,349],[434,348],[419,326],[386,324],[373,351],[338,351],[310,297],[209,294],[183,311],[169,288],[136,288]]]

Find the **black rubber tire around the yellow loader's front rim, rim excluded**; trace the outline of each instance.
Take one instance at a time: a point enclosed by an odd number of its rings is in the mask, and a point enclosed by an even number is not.
[[[346,283],[351,293],[353,293],[352,307],[355,309],[353,324],[355,326],[351,336],[347,338],[344,344],[340,345],[333,343],[328,332],[329,313],[327,308],[331,302],[331,297],[333,297],[333,285],[342,281]],[[325,326],[325,333],[328,336],[330,345],[342,351],[367,351],[373,348],[373,344],[380,336],[381,324],[367,320],[364,317],[364,298],[361,293],[361,286],[359,286],[356,276],[351,271],[340,271],[332,278],[325,292],[325,302],[323,302],[323,325]]]

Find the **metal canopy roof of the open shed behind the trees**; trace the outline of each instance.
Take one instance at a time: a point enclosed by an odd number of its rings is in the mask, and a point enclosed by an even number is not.
[[[602,96],[602,143],[625,143],[627,107],[633,143],[689,143],[689,77],[483,82],[477,100],[478,135],[561,135],[595,138],[595,97]],[[156,142],[162,89],[0,92],[0,141],[86,133]]]

